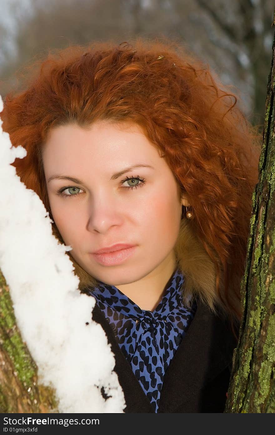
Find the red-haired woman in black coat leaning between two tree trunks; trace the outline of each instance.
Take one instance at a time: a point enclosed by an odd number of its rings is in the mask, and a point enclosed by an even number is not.
[[[17,174],[96,298],[125,412],[224,410],[259,156],[235,103],[140,38],[49,55],[6,98]]]

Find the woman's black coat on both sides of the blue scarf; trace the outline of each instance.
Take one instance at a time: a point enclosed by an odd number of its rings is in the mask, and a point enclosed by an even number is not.
[[[195,317],[164,375],[158,412],[224,411],[237,343],[227,321],[215,316],[201,301],[197,304]],[[126,402],[124,412],[154,412],[97,304],[93,320],[102,325],[115,355],[114,371]]]

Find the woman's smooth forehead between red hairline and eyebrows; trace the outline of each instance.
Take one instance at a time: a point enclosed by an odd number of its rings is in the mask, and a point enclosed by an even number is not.
[[[57,164],[69,162],[89,162],[99,164],[108,162],[142,163],[140,159],[152,164],[163,161],[160,151],[144,134],[138,124],[114,124],[96,122],[84,129],[68,124],[54,128],[48,134],[43,146],[43,162]],[[159,162],[161,163],[161,162]]]

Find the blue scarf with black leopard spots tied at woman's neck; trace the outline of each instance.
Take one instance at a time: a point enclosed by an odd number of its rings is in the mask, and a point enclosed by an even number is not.
[[[183,305],[183,283],[183,274],[176,268],[154,311],[142,310],[114,285],[102,281],[89,291],[155,412],[165,372],[195,315],[195,303],[191,309]]]

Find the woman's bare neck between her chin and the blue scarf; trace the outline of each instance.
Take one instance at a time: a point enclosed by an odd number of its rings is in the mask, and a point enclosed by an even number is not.
[[[162,299],[166,283],[176,268],[176,255],[172,251],[159,266],[138,281],[116,285],[142,310],[154,311]]]

